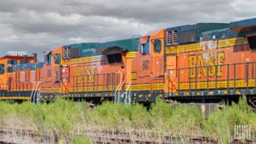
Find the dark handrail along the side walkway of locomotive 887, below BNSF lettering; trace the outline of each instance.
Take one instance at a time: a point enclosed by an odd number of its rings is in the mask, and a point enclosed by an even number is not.
[[[199,65],[199,66],[195,66],[195,67],[179,67],[179,68],[171,68],[171,69],[165,69],[165,73],[166,72],[170,72],[170,71],[177,71],[176,73],[176,78],[177,78],[177,85],[178,88],[176,88],[177,92],[181,92],[181,84],[182,82],[189,82],[188,86],[183,86],[182,91],[186,91],[188,90],[189,92],[191,91],[196,91],[197,90],[219,90],[219,89],[223,89],[226,88],[227,90],[230,90],[230,88],[232,88],[233,90],[236,90],[236,88],[246,88],[246,90],[249,90],[249,88],[251,87],[255,87],[256,88],[256,76],[255,73],[251,72],[254,71],[255,69],[255,63],[256,62],[242,62],[242,63],[224,63],[224,64],[215,64],[215,65]],[[220,77],[217,77],[217,75],[213,75],[213,76],[209,76],[209,72],[211,71],[211,67],[215,67],[216,71],[218,67],[221,67],[221,69],[226,69],[225,72],[223,72],[223,75],[221,77],[223,77],[223,80],[226,81],[226,85],[218,85],[218,81],[221,81],[221,79],[219,79]],[[238,69],[238,67],[242,67],[242,71],[244,72],[244,75],[238,75],[238,71],[236,71],[236,69]],[[194,75],[194,77],[190,78],[190,71],[191,69],[194,71],[193,73],[198,73],[198,71],[201,71],[202,75],[204,75],[204,77],[198,77],[197,74]],[[206,72],[203,73],[202,69],[204,69]],[[185,70],[188,71],[188,73],[184,73],[181,75],[181,71]],[[216,72],[217,73],[217,72]],[[184,77],[184,75],[188,74],[188,79],[182,79],[182,77]],[[230,75],[231,74],[231,75]],[[166,73],[165,74],[167,76],[167,79],[170,79],[171,75],[170,73]],[[187,76],[186,76],[187,77]],[[200,80],[198,80],[200,79]],[[238,79],[244,79],[244,86],[240,86],[237,87],[236,85],[236,80]],[[253,81],[249,82],[249,79],[254,79],[254,85]],[[198,88],[198,82],[205,82],[205,86],[200,86],[200,88]],[[194,86],[193,88],[191,88],[191,83],[194,82]],[[215,86],[212,86],[210,88],[210,82],[215,82]],[[230,86],[230,82],[233,82],[232,86]],[[218,87],[219,86],[219,87]],[[168,88],[170,90],[170,85],[168,84]],[[169,91],[168,90],[168,91]],[[169,92],[168,92],[169,93]]]

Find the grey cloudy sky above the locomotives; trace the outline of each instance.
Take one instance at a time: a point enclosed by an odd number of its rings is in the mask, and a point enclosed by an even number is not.
[[[198,22],[256,17],[255,0],[0,0],[0,56],[61,45],[129,39]]]

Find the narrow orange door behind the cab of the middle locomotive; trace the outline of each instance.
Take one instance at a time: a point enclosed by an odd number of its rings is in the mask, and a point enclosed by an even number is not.
[[[61,92],[68,93],[68,79],[70,75],[70,67],[68,66],[61,66],[60,67],[60,81],[61,81]]]

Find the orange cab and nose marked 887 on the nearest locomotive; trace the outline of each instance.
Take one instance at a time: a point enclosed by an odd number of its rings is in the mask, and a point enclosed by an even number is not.
[[[131,67],[131,90],[135,101],[155,101],[163,92],[165,29],[150,31],[139,39]]]

